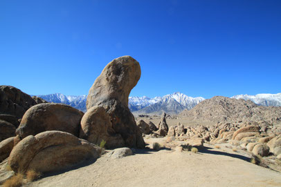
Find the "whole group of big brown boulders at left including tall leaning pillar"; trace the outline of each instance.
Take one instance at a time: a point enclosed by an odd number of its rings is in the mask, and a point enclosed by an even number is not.
[[[47,173],[97,159],[102,148],[96,145],[102,141],[110,149],[144,148],[128,108],[129,92],[140,77],[140,65],[132,57],[111,61],[89,90],[85,114],[0,86],[0,162],[8,157],[16,173]]]

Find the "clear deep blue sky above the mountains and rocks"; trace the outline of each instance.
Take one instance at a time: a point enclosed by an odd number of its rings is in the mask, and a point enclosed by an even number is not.
[[[87,95],[131,55],[131,96],[281,92],[281,1],[0,1],[0,85]]]

